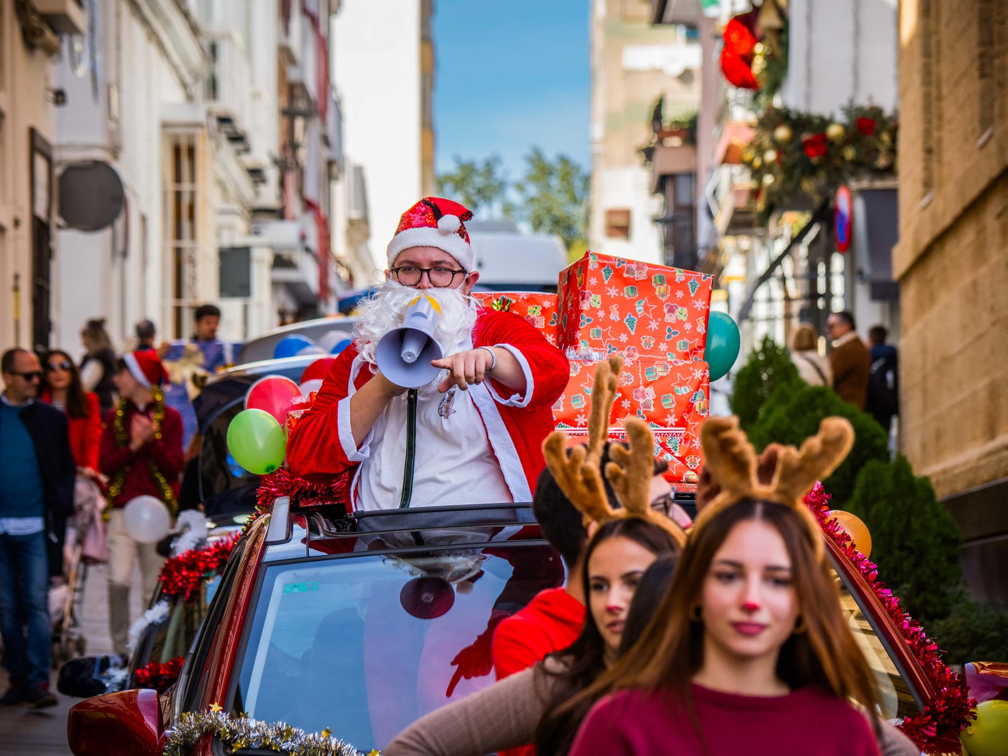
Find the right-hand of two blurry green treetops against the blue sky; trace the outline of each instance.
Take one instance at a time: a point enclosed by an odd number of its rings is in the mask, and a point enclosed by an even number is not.
[[[566,155],[555,160],[538,147],[525,156],[525,175],[515,185],[521,218],[532,231],[556,234],[571,250],[588,238],[588,172]]]

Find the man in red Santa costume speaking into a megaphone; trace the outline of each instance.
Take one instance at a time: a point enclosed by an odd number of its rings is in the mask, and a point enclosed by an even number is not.
[[[532,500],[570,367],[524,319],[470,297],[479,279],[472,217],[438,198],[402,215],[384,285],[290,431],[290,470],[316,482],[349,472],[354,510]],[[438,378],[407,395],[378,370],[375,349],[417,289],[437,304],[446,357],[431,363]]]

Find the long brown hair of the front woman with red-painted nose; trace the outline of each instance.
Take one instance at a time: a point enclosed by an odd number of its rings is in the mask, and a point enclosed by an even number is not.
[[[732,529],[746,520],[766,522],[783,538],[791,559],[799,624],[807,628],[781,646],[777,676],[791,689],[816,685],[875,712],[874,677],[844,617],[829,562],[816,552],[813,539],[822,536],[809,529],[798,510],[755,499],[722,509],[692,534],[672,585],[640,640],[579,698],[597,701],[622,688],[671,687],[697,727],[689,691],[704,661],[704,623],[690,619],[690,608],[702,603],[701,592],[715,553]]]

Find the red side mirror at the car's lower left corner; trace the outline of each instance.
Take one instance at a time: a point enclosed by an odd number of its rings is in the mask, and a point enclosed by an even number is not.
[[[75,756],[161,756],[156,690],[123,690],[70,710],[67,741]]]

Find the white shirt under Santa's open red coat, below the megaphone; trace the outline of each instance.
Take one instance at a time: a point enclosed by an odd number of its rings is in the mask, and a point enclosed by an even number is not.
[[[512,501],[473,401],[477,391],[487,392],[487,384],[470,386],[468,391],[453,388],[445,394],[436,387],[420,389],[411,508]],[[406,394],[392,399],[365,442],[369,454],[361,462],[357,479],[357,510],[399,506],[406,458]]]

